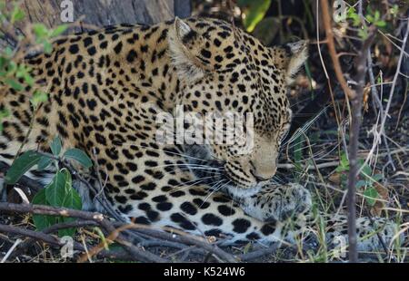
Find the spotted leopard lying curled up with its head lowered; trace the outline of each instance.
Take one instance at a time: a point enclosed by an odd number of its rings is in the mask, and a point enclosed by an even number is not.
[[[347,243],[344,214],[322,214],[324,229],[317,230],[311,192],[272,180],[292,121],[287,93],[307,55],[307,41],[267,47],[211,18],[57,38],[52,53],[25,58],[34,86],[18,92],[1,85],[0,109],[10,115],[0,133],[0,161],[11,165],[26,150],[49,151],[58,136],[63,150],[78,148],[94,160],[84,171],[91,184],[102,179],[106,199],[135,224],[214,237],[220,245],[288,245],[317,233],[328,247],[335,238]],[[34,108],[38,89],[48,99]],[[175,117],[181,108],[202,116],[251,114],[251,149],[159,141],[158,116]],[[33,168],[26,176],[46,185],[52,172]],[[73,185],[85,209],[103,211],[83,182]],[[398,231],[386,218],[357,218],[356,227],[361,251],[382,249]]]

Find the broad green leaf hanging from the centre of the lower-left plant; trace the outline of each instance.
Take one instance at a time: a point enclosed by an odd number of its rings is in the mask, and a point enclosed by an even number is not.
[[[65,170],[58,171],[45,188],[45,198],[51,206],[64,207],[65,197],[70,196],[71,176],[67,179],[66,174]]]

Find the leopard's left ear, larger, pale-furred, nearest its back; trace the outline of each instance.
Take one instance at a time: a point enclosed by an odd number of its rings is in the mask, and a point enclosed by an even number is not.
[[[178,17],[169,34],[169,50],[176,71],[185,82],[195,82],[211,70],[199,59],[205,48],[205,38]]]

